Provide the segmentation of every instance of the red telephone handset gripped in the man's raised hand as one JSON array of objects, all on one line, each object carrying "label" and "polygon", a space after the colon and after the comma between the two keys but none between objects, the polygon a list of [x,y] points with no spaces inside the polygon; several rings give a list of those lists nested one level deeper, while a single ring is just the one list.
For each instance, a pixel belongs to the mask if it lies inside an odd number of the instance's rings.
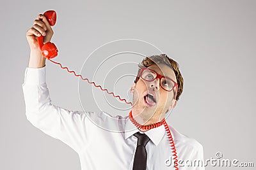
[{"label": "red telephone handset gripped in the man's raised hand", "polygon": [[[47,21],[51,26],[55,25],[57,18],[56,11],[46,11],[44,16],[47,18]],[[41,35],[40,37],[37,37],[37,41],[40,50],[42,51],[42,55],[44,55],[46,59],[49,60],[58,55],[58,49],[54,43],[47,42],[44,44],[44,36]]]}]

